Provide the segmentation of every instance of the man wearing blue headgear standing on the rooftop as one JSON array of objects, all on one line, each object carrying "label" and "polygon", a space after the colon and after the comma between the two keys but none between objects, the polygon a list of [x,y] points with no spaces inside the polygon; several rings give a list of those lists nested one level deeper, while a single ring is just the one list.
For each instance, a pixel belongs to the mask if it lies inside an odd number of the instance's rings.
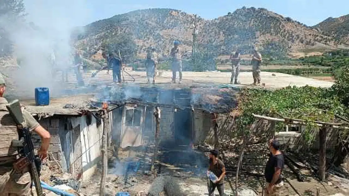
[{"label": "man wearing blue headgear standing on the rooftop", "polygon": [[173,42],[174,47],[171,49],[170,56],[172,58],[172,82],[176,83],[177,71],[179,72],[179,83],[182,83],[182,54],[181,48],[179,47],[179,41]]}]

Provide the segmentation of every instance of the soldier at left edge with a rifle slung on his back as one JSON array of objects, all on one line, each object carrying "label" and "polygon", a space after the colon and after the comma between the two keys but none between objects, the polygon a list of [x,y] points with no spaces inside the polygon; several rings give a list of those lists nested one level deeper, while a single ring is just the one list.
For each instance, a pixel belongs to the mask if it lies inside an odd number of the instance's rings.
[{"label": "soldier at left edge with a rifle slung on his back", "polygon": [[[17,148],[11,145],[13,139],[18,140],[18,127],[6,108],[7,100],[3,97],[5,93],[5,80],[0,76],[0,196],[30,196],[31,177],[29,167],[21,172],[14,170],[13,164],[18,160]],[[22,108],[23,118],[30,132],[35,132],[41,138],[41,147],[38,150],[39,157],[47,158],[47,150],[50,144],[50,133],[46,131]]]}]

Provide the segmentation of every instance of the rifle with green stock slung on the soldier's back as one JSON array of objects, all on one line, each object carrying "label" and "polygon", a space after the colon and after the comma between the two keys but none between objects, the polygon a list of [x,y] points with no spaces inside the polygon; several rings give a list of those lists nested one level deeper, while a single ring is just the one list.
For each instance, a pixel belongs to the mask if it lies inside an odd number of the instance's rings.
[{"label": "rifle with green stock slung on the soldier's back", "polygon": [[10,115],[16,122],[18,126],[20,126],[20,140],[12,140],[12,144],[15,147],[22,147],[19,150],[19,153],[22,154],[21,158],[18,159],[16,163],[14,163],[13,167],[17,171],[23,171],[25,167],[30,167],[30,175],[32,181],[34,181],[36,194],[38,196],[43,196],[43,191],[39,178],[39,170],[41,166],[41,160],[34,155],[34,144],[31,140],[30,132],[28,126],[25,124],[21,106],[18,100],[14,100],[9,104],[6,104],[6,108],[9,111]]}]

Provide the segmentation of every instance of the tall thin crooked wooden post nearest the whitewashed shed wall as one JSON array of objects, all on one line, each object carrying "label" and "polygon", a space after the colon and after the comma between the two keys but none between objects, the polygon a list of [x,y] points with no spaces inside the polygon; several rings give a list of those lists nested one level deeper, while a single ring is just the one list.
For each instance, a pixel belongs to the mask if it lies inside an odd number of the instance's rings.
[{"label": "tall thin crooked wooden post nearest the whitewashed shed wall", "polygon": [[102,133],[102,178],[101,178],[101,186],[99,187],[99,196],[104,196],[104,182],[105,175],[107,173],[107,132],[108,132],[108,112],[107,110],[103,110],[103,133]]}]

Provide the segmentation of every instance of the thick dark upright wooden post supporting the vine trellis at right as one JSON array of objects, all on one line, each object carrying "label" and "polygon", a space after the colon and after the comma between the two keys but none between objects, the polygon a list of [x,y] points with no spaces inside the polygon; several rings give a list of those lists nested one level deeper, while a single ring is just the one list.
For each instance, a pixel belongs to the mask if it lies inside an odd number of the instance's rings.
[{"label": "thick dark upright wooden post supporting the vine trellis at right", "polygon": [[325,172],[326,172],[326,134],[327,127],[322,126],[319,130],[319,178],[320,180],[325,180]]}]

